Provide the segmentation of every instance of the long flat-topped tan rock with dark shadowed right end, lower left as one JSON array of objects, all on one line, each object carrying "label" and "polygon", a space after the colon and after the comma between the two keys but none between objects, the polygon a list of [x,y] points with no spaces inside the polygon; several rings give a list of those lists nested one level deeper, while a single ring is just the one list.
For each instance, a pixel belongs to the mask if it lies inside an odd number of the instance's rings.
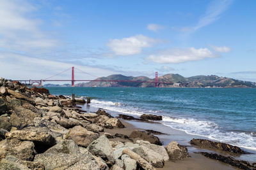
[{"label": "long flat-topped tan rock with dark shadowed right end, lower left", "polygon": [[11,131],[5,134],[6,139],[19,139],[22,141],[34,141],[43,145],[55,145],[56,141],[51,134],[45,132]]}]

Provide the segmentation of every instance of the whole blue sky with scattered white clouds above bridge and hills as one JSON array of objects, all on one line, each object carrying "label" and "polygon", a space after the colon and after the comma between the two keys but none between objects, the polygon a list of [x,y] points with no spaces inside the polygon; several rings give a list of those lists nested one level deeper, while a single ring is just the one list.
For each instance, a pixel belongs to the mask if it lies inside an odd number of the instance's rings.
[{"label": "whole blue sky with scattered white clouds above bridge and hills", "polygon": [[0,0],[0,77],[70,79],[74,66],[77,79],[157,71],[256,81],[255,8],[255,0]]}]

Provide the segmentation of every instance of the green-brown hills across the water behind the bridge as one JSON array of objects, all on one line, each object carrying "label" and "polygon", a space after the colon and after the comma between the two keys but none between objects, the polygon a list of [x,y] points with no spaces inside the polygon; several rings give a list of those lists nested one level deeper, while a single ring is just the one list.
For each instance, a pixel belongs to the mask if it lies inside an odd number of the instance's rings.
[{"label": "green-brown hills across the water behind the bridge", "polygon": [[[155,79],[146,76],[124,76],[122,74],[113,74],[107,77],[100,77],[95,80],[132,80],[132,81],[155,81]],[[241,81],[233,78],[220,76],[192,76],[185,78],[180,74],[165,74],[158,77],[161,82],[173,82],[174,85],[159,83],[159,87],[243,87],[255,88],[256,83],[250,81]],[[104,82],[90,81],[87,83],[77,83],[77,87],[154,87],[154,83],[131,83],[131,82]]]}]

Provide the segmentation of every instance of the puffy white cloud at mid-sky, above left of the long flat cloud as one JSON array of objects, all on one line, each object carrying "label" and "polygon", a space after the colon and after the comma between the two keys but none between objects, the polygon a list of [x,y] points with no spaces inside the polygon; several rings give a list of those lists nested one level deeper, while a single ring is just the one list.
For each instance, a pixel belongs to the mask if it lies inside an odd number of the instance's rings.
[{"label": "puffy white cloud at mid-sky, above left of the long flat cloud", "polygon": [[151,47],[159,42],[161,42],[159,39],[140,34],[129,38],[110,39],[107,45],[115,52],[115,55],[134,55],[141,53],[142,48]]}]

